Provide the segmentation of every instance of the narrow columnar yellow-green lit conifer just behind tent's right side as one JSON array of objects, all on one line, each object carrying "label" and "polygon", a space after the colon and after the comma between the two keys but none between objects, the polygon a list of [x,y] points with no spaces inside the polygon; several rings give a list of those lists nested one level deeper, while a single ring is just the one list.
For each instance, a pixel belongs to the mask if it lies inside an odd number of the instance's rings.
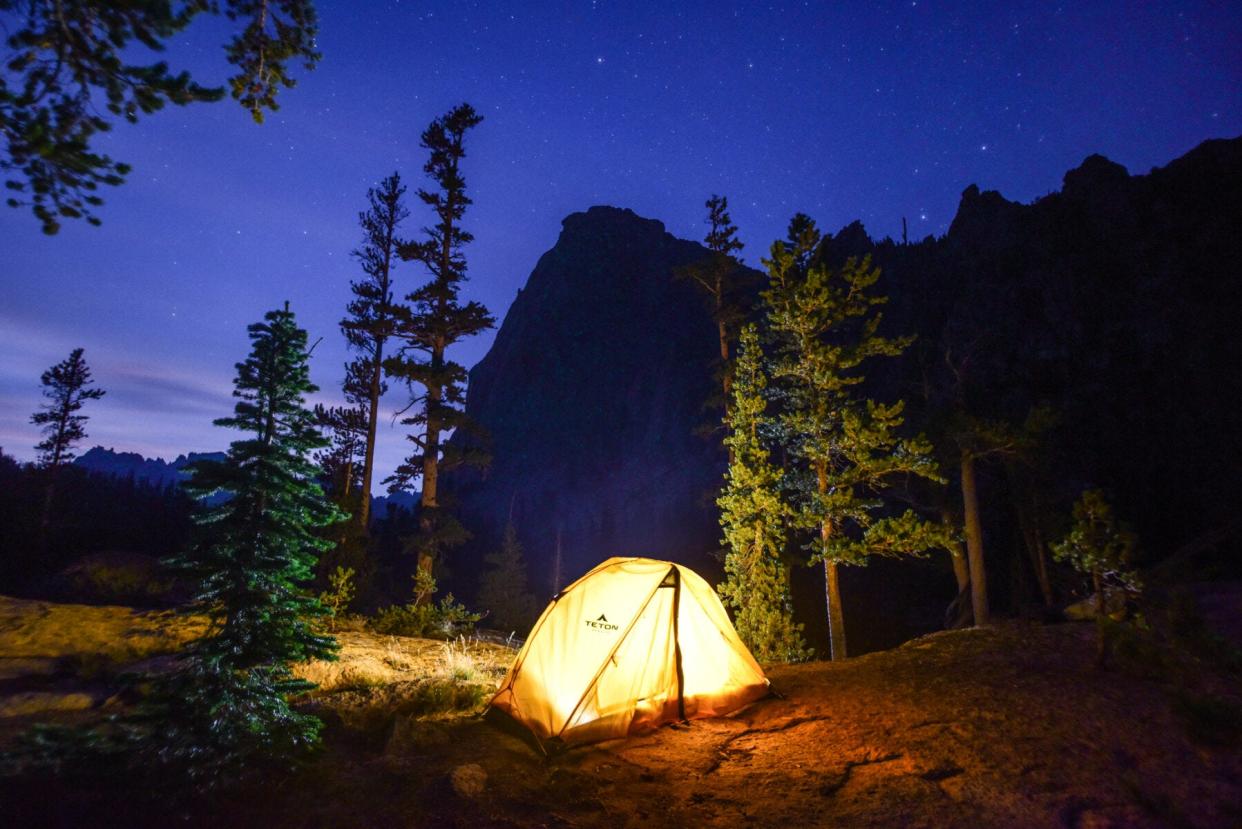
[{"label": "narrow columnar yellow-green lit conifer just behind tent's right side", "polygon": [[725,580],[717,590],[733,609],[738,635],[761,662],[807,659],[802,625],[794,623],[789,574],[781,561],[792,510],[780,491],[784,470],[765,441],[768,401],[759,333],[741,329],[725,416],[730,450],[724,492],[717,498],[724,528]]}]

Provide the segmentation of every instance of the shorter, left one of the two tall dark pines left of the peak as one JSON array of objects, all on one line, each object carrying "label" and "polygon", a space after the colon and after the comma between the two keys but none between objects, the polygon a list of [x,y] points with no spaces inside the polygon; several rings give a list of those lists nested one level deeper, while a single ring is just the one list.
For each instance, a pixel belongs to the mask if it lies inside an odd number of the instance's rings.
[{"label": "shorter, left one of the two tall dark pines left of the peak", "polygon": [[[353,251],[364,277],[350,282],[349,288],[354,298],[348,306],[349,316],[340,321],[340,328],[350,348],[360,354],[350,364],[348,377],[356,379],[360,401],[366,409],[360,485],[366,495],[371,492],[375,476],[375,430],[379,425],[380,398],[388,392],[388,384],[384,383],[384,347],[392,337],[397,317],[407,314],[392,297],[392,267],[397,259],[397,249],[404,245],[397,230],[410,215],[401,203],[402,195],[405,186],[397,173],[384,179],[379,188],[366,191],[369,206],[358,214],[358,224],[363,229],[363,244]],[[365,531],[370,523],[369,497],[363,498],[356,520]]]}]

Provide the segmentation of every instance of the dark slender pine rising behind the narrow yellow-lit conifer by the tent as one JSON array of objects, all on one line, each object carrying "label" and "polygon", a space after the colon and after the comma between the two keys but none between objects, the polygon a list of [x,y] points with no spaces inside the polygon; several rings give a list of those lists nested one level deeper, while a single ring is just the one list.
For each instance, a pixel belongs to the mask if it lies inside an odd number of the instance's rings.
[{"label": "dark slender pine rising behind the narrow yellow-lit conifer by the tent", "polygon": [[720,385],[724,392],[724,408],[728,411],[729,390],[733,383],[732,346],[737,338],[738,326],[745,319],[749,287],[746,270],[738,261],[737,254],[744,245],[738,239],[738,227],[729,216],[729,200],[713,195],[707,200],[707,242],[708,255],[702,261],[687,265],[676,273],[678,278],[693,280],[707,295],[715,322],[718,346],[720,349]]}]

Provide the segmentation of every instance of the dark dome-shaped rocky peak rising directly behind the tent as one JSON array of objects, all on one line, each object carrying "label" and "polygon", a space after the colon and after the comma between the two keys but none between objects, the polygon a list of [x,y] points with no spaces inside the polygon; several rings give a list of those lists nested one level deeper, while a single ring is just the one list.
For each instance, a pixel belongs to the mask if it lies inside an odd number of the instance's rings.
[{"label": "dark dome-shaped rocky peak rising directly behind the tent", "polygon": [[510,510],[540,597],[609,556],[708,558],[724,462],[694,430],[709,416],[715,331],[704,298],[673,278],[704,254],[630,210],[565,219],[471,370],[467,410],[494,461],[453,487],[477,536],[453,568],[466,583]]}]

